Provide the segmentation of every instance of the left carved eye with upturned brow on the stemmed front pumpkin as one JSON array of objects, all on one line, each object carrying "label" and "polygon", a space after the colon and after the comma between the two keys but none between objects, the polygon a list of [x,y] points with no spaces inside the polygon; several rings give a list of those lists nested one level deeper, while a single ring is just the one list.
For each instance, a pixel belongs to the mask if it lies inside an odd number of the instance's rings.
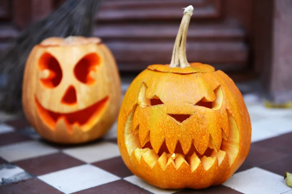
[{"label": "left carved eye with upturned brow on the stemmed front pumpkin", "polygon": [[148,87],[143,82],[138,94],[138,103],[140,106],[156,106],[156,105],[164,104],[163,101],[156,95],[150,99],[146,98],[145,93],[146,93],[147,88]]}]

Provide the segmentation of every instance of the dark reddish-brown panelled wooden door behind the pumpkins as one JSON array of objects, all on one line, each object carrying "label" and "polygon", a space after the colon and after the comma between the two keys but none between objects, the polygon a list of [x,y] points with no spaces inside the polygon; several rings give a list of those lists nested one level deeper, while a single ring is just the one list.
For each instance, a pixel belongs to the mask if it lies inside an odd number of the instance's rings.
[{"label": "dark reddish-brown panelled wooden door behind the pumpkins", "polygon": [[[0,52],[21,29],[63,1],[1,0]],[[104,0],[94,35],[110,47],[121,73],[168,64],[183,16],[180,8],[188,5],[195,8],[187,37],[188,61],[228,73],[252,71],[252,0]]]}]

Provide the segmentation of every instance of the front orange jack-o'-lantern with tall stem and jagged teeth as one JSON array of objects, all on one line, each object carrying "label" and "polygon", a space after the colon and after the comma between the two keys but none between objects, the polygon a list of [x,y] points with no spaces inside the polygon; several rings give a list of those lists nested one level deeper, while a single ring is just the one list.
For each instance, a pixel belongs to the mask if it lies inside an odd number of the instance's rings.
[{"label": "front orange jack-o'-lantern with tall stem and jagged teeth", "polygon": [[240,91],[211,65],[189,64],[185,8],[170,65],[150,65],[129,85],[118,145],[130,171],[167,189],[201,189],[229,179],[248,155],[251,122]]}]

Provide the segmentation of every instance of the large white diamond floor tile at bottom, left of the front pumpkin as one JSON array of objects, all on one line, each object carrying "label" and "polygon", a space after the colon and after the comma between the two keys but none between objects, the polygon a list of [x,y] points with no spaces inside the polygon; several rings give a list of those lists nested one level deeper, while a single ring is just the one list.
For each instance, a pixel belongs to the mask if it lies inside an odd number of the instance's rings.
[{"label": "large white diamond floor tile at bottom, left of the front pumpkin", "polygon": [[56,171],[39,176],[38,178],[65,194],[78,192],[120,179],[90,164]]}]

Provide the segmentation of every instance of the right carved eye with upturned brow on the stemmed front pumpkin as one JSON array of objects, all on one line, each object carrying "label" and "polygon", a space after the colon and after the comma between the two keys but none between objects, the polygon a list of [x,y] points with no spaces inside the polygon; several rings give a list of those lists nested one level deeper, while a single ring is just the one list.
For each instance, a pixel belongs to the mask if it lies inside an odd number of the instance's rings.
[{"label": "right carved eye with upturned brow on the stemmed front pumpkin", "polygon": [[[205,97],[203,97],[199,102],[194,104],[195,106],[202,106],[208,109],[213,109],[213,110],[219,110],[222,106],[223,103],[223,92],[221,85],[219,85],[215,90],[215,100],[214,101],[208,101]],[[190,103],[190,102],[187,102]],[[193,103],[190,103],[193,104]]]}]

